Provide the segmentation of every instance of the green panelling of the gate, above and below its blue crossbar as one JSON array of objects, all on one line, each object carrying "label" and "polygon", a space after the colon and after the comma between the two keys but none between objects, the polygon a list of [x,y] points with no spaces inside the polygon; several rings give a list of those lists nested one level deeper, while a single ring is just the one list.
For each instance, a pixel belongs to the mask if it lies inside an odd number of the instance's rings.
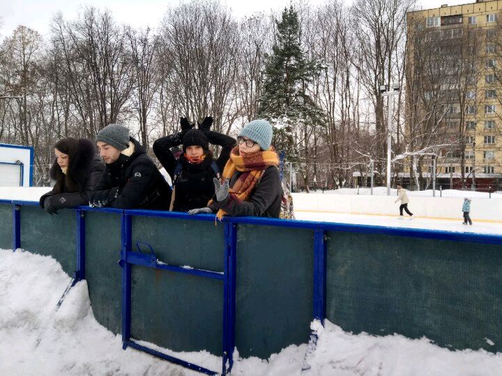
[{"label": "green panelling of the gate, above and below its blue crossbar", "polygon": [[[224,271],[224,224],[132,217],[132,251],[136,242],[150,244],[162,263]],[[132,338],[177,352],[222,354],[222,281],[133,266],[131,295]]]}]

